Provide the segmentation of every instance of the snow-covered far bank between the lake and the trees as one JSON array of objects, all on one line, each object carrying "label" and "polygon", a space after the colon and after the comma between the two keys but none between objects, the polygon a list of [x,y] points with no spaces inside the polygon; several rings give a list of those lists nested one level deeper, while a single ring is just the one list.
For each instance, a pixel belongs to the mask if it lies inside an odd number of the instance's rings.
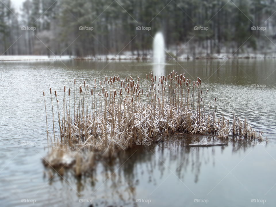
[{"label": "snow-covered far bank between the lake and the trees", "polygon": [[[183,54],[180,56],[170,57],[167,55],[167,60],[187,60],[187,59],[253,59],[253,58],[276,58],[276,53],[264,54],[240,54],[233,56],[231,54],[213,54],[213,55],[196,55]],[[138,56],[138,55],[96,55],[87,57],[74,57],[74,56],[50,56],[47,55],[1,55],[0,61],[35,61],[35,60],[152,60],[152,55]]]}]

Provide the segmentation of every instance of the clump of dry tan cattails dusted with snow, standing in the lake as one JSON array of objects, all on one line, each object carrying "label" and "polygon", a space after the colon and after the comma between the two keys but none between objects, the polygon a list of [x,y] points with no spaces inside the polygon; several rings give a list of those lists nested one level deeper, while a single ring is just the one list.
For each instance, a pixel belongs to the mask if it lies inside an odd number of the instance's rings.
[{"label": "clump of dry tan cattails dusted with snow, standing in the lake", "polygon": [[234,116],[230,123],[224,116],[216,117],[216,98],[212,109],[204,106],[208,90],[202,91],[200,78],[191,81],[174,71],[144,77],[106,76],[94,78],[91,85],[77,85],[75,79],[73,89],[64,86],[62,94],[55,91],[55,97],[50,89],[52,127],[55,131],[58,123],[60,132],[51,143],[110,155],[138,141],[158,142],[176,132],[262,139],[246,119]]}]

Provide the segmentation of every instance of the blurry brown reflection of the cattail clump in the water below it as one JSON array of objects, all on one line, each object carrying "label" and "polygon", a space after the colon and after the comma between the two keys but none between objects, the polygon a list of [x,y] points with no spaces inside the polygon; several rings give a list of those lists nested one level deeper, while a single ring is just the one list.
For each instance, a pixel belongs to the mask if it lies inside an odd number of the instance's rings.
[{"label": "blurry brown reflection of the cattail clump in the water below it", "polygon": [[[202,183],[204,181],[200,179],[201,167],[202,165],[215,167],[218,164],[216,153],[223,153],[225,149],[230,148],[233,153],[246,152],[248,148],[254,147],[254,143],[250,141],[229,141],[228,146],[188,147],[189,143],[195,141],[221,142],[214,136],[195,135],[190,138],[175,137],[173,141],[137,146],[119,152],[117,158],[112,160],[97,157],[89,176],[74,177],[70,171],[66,171],[64,179],[62,177],[59,179],[63,187],[68,188],[66,191],[70,191],[72,187],[80,200],[93,200],[93,205],[136,206],[136,199],[140,198],[138,194],[143,186],[148,186],[150,192],[154,191],[170,174],[175,175],[181,183],[186,183],[191,177],[185,178],[186,174],[192,174],[194,183]],[[54,177],[50,184],[54,185],[59,179]],[[64,185],[66,183],[68,185]],[[89,196],[87,191],[91,192]]]}]

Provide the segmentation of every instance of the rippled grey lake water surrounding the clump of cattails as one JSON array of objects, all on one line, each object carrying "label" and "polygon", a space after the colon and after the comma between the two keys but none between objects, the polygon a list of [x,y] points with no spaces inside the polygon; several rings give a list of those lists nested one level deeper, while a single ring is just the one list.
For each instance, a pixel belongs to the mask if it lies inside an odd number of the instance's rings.
[{"label": "rippled grey lake water surrounding the clump of cattails", "polygon": [[[138,146],[99,160],[91,177],[66,172],[49,179],[42,91],[94,78],[140,76],[154,71],[202,79],[217,115],[247,118],[268,140],[187,147],[185,137]],[[147,62],[0,62],[1,206],[275,206],[276,59]]]}]

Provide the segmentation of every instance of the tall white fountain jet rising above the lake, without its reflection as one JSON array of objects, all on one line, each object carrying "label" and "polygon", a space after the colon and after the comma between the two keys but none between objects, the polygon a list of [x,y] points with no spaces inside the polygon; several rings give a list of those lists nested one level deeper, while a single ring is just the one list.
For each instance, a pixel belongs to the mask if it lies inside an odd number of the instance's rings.
[{"label": "tall white fountain jet rising above the lake, without its reflection", "polygon": [[162,32],[157,32],[154,36],[153,60],[155,64],[165,63],[165,43]]}]

